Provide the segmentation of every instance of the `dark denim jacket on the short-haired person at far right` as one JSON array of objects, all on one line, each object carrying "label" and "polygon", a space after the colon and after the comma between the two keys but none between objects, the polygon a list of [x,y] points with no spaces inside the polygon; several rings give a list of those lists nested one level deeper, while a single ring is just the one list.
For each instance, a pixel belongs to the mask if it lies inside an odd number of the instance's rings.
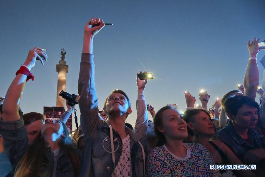
[{"label": "dark denim jacket on the short-haired person at far right", "polygon": [[228,145],[228,147],[241,161],[243,155],[248,150],[259,149],[265,146],[264,135],[261,133],[259,128],[250,128],[248,130],[248,135],[252,143],[249,144],[240,135],[238,135],[231,120],[229,120],[225,127],[223,127],[221,130],[218,130],[217,135],[221,138],[221,141]]}]

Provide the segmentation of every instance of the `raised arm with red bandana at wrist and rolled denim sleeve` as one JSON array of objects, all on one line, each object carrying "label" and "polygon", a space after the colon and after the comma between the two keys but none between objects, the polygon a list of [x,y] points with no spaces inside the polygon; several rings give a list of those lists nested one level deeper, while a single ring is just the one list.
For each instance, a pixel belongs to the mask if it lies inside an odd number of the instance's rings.
[{"label": "raised arm with red bandana at wrist and rolled denim sleeve", "polygon": [[[25,82],[32,77],[29,70],[34,67],[36,58],[42,64],[43,59],[47,60],[46,53],[42,49],[35,47],[29,50],[27,60],[24,65],[16,72],[16,77],[9,86],[6,93],[6,99],[3,104],[3,117],[1,120],[1,135],[4,139],[4,149],[15,170],[19,160],[23,157],[29,145],[28,133],[24,126],[23,119],[19,116],[19,104],[24,91]],[[42,59],[43,58],[43,59]]]}]

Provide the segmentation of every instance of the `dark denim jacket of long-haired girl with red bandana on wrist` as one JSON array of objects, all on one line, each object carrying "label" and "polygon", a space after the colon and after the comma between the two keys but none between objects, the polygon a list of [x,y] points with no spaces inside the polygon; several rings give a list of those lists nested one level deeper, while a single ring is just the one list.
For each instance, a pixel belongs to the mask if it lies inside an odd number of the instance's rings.
[{"label": "dark denim jacket of long-haired girl with red bandana on wrist", "polygon": [[[21,117],[18,121],[3,121],[0,120],[1,135],[4,138],[4,149],[8,156],[13,171],[15,171],[19,160],[23,157],[29,146],[28,134],[24,126],[24,120]],[[47,172],[45,176],[52,176],[54,169],[54,154],[49,147],[44,152],[44,159],[46,159],[41,167],[41,172]],[[70,177],[75,176],[74,167],[70,158],[62,151],[59,152],[57,160],[56,176]]]}]

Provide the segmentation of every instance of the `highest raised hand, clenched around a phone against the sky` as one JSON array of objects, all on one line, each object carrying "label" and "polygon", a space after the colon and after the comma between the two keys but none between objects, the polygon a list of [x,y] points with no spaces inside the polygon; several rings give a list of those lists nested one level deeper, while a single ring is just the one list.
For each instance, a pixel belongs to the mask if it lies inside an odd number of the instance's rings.
[{"label": "highest raised hand, clenched around a phone against the sky", "polygon": [[[95,26],[95,25],[98,25],[98,26]],[[94,37],[94,35],[97,34],[104,26],[105,24],[102,19],[92,18],[85,26],[84,36]]]}]

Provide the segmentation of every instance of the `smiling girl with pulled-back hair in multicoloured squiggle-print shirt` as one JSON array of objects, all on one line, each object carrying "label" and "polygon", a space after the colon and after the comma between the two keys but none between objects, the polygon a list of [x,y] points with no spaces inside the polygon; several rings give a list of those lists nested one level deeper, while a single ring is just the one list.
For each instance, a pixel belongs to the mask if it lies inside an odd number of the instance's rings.
[{"label": "smiling girl with pulled-back hair in multicoloured squiggle-print shirt", "polygon": [[149,176],[221,176],[211,170],[211,154],[197,143],[183,143],[187,124],[173,106],[161,108],[154,119],[158,145],[148,156]]}]

